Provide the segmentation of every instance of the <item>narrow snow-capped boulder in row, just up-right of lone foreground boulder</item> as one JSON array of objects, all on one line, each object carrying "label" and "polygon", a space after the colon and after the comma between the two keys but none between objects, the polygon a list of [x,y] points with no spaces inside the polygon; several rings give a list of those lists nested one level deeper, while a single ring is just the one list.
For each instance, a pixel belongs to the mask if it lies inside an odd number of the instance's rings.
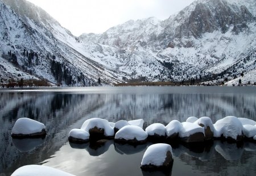
[{"label": "narrow snow-capped boulder in row, just up-right of lone foreground boulder", "polygon": [[173,141],[179,136],[182,125],[179,121],[173,120],[166,126],[166,135],[168,141]]}]

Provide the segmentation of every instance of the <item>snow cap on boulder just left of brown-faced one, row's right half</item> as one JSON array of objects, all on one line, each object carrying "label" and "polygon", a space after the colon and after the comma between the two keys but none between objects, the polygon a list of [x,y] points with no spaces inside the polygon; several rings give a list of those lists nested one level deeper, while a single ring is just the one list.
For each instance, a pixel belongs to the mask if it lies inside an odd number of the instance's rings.
[{"label": "snow cap on boulder just left of brown-faced one, row's right half", "polygon": [[197,132],[202,132],[204,134],[204,128],[199,125],[196,125],[195,123],[182,122],[181,125],[182,128],[180,129],[179,132],[180,138],[189,137],[190,135],[193,135]]}]

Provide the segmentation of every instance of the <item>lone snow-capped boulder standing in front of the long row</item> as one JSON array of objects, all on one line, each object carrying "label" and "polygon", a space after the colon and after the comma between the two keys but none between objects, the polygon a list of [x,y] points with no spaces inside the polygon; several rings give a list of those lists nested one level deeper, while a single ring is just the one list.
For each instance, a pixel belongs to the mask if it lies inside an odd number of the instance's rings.
[{"label": "lone snow-capped boulder standing in front of the long row", "polygon": [[174,162],[172,147],[169,144],[153,144],[147,148],[141,162],[141,169],[170,169]]}]

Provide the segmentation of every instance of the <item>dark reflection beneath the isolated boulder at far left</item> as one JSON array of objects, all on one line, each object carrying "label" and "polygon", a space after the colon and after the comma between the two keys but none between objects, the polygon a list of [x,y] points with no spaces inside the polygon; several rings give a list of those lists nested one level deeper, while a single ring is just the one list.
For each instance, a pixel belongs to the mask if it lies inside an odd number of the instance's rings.
[{"label": "dark reflection beneath the isolated boulder at far left", "polygon": [[13,138],[14,146],[20,152],[29,152],[42,145],[44,143],[44,138],[29,138],[29,139],[15,139]]}]

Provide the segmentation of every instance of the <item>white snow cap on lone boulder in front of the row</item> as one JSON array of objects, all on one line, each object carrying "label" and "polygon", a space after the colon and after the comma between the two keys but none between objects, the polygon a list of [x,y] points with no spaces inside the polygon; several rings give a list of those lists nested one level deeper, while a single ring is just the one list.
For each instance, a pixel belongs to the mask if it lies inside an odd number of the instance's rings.
[{"label": "white snow cap on lone boulder in front of the row", "polygon": [[162,166],[166,161],[166,153],[168,151],[172,154],[172,147],[169,144],[150,145],[143,155],[141,165]]}]

